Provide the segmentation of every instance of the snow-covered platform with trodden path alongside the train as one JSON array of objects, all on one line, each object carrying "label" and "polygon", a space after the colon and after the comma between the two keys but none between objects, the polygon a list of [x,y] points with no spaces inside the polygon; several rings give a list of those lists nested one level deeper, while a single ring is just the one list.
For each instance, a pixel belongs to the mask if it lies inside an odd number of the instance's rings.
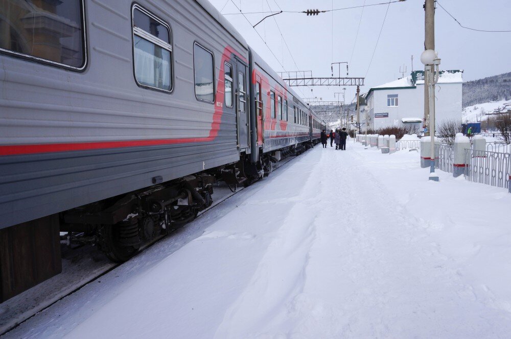
[{"label": "snow-covered platform with trodden path alongside the train", "polygon": [[316,146],[5,337],[509,338],[511,194],[346,148]]}]

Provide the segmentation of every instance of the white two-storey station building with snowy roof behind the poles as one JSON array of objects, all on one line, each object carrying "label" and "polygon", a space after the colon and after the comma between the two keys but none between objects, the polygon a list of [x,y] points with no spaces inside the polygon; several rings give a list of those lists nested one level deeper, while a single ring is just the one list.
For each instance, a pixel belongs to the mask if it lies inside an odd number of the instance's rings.
[{"label": "white two-storey station building with snowy roof behind the poles", "polygon": [[[462,70],[440,71],[435,93],[437,125],[445,119],[461,120],[462,74]],[[387,126],[414,126],[422,129],[424,71],[413,71],[402,79],[373,87],[365,98],[369,128],[375,130]],[[365,116],[361,115],[362,119]]]}]

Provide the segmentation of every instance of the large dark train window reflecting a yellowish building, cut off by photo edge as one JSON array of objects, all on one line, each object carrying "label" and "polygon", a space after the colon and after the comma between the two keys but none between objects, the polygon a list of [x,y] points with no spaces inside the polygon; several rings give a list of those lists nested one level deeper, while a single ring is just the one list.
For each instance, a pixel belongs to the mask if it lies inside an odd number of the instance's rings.
[{"label": "large dark train window reflecting a yellowish building, cut off by photo edge", "polygon": [[0,50],[60,65],[85,68],[83,1],[0,2]]}]

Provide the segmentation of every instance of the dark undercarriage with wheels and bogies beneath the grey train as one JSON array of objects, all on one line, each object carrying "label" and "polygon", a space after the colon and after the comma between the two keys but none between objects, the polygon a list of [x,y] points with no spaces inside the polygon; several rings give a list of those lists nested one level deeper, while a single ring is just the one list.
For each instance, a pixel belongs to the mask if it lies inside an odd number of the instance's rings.
[{"label": "dark undercarriage with wheels and bogies beneath the grey train", "polygon": [[255,163],[243,155],[236,163],[2,229],[0,302],[60,273],[61,245],[98,246],[113,262],[125,262],[144,244],[182,227],[211,206],[218,181],[236,191],[268,176],[275,163],[312,147],[312,142],[304,142],[260,152]]}]

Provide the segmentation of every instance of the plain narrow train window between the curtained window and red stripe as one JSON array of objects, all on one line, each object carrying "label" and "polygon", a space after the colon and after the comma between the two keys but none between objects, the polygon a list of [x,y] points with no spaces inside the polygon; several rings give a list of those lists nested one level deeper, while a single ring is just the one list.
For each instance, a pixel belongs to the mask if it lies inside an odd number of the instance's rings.
[{"label": "plain narrow train window between the curtained window and red stripe", "polygon": [[197,100],[214,102],[215,79],[213,53],[195,43],[193,46],[193,65],[195,75],[195,97]]}]

